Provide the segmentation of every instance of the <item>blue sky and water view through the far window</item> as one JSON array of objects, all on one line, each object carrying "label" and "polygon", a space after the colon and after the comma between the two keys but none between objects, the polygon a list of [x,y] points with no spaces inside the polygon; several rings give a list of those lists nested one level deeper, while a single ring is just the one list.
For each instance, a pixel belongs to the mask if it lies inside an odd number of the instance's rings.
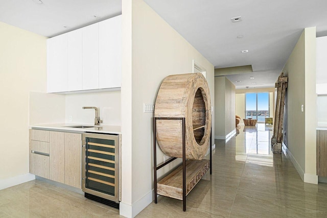
[{"label": "blue sky and water view through the far window", "polygon": [[259,123],[265,123],[265,117],[269,117],[268,92],[245,94],[245,117],[258,119]]}]

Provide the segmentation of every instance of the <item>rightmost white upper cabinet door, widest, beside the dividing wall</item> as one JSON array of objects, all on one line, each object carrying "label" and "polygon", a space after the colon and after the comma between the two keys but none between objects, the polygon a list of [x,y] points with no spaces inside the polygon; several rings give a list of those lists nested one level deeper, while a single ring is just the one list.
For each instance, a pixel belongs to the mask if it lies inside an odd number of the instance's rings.
[{"label": "rightmost white upper cabinet door, widest, beside the dividing wall", "polygon": [[121,87],[122,16],[99,22],[99,88]]}]

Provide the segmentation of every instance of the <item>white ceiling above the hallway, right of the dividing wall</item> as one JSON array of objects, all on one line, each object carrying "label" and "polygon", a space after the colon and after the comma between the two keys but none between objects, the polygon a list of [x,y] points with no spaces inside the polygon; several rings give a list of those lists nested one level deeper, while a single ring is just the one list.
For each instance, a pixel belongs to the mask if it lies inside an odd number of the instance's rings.
[{"label": "white ceiling above the hallway, right of the dividing wall", "polygon": [[[237,88],[273,87],[304,28],[327,35],[326,0],[145,2],[215,68],[252,65],[252,74],[227,76]],[[237,16],[242,21],[231,22]]]}]

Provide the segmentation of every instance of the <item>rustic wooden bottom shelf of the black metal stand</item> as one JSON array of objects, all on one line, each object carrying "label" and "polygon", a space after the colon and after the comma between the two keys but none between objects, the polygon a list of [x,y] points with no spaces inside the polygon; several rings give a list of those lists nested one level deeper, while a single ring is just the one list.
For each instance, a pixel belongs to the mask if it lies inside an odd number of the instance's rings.
[{"label": "rustic wooden bottom shelf of the black metal stand", "polygon": [[[186,160],[186,196],[210,168],[209,160]],[[157,183],[157,194],[183,200],[183,166]]]}]

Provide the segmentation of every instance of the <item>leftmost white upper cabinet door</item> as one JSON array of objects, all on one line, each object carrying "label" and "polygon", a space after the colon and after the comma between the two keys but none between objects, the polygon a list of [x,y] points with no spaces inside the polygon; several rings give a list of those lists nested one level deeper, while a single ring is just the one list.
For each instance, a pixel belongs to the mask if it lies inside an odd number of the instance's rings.
[{"label": "leftmost white upper cabinet door", "polygon": [[47,45],[47,91],[67,90],[67,34],[46,41]]}]

